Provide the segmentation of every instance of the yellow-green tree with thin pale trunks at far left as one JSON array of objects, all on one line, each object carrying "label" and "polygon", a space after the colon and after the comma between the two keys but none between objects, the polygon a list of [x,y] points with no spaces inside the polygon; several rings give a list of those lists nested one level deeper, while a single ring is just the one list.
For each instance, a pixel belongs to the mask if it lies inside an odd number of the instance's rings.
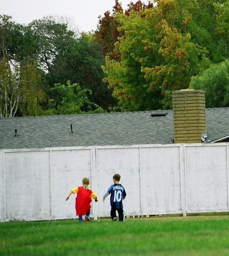
[{"label": "yellow-green tree with thin pale trunks at far left", "polygon": [[0,116],[42,115],[46,94],[40,77],[33,65],[12,65],[7,57],[0,58]]}]

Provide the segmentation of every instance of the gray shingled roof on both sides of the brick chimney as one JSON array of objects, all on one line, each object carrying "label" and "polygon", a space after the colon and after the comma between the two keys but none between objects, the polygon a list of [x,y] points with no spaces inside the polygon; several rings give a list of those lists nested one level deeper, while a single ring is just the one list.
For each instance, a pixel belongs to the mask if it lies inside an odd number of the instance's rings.
[{"label": "gray shingled roof on both sides of the brick chimney", "polygon": [[[206,109],[206,127],[208,141],[229,136],[229,108]],[[172,110],[0,118],[0,149],[170,143]]]}]

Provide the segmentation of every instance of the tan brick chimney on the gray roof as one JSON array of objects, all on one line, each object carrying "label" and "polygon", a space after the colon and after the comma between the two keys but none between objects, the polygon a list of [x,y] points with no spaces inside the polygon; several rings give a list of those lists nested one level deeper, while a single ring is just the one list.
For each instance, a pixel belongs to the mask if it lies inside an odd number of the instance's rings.
[{"label": "tan brick chimney on the gray roof", "polygon": [[174,143],[200,143],[206,133],[205,92],[172,92]]}]

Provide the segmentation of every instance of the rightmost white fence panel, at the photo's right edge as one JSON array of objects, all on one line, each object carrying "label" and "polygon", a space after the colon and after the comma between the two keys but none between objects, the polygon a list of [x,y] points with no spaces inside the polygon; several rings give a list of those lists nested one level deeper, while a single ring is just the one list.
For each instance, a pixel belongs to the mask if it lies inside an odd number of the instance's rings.
[{"label": "rightmost white fence panel, at the photo's right edge", "polygon": [[227,146],[186,147],[187,212],[228,210]]}]

